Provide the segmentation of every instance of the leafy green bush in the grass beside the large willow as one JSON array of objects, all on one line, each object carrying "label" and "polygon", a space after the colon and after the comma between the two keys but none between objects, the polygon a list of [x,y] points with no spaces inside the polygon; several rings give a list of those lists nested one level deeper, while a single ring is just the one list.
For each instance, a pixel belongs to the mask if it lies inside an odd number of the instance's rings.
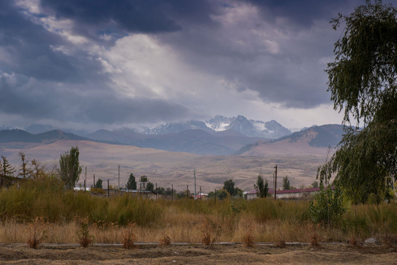
[{"label": "leafy green bush in the grass beside the large willow", "polygon": [[338,224],[345,211],[341,189],[335,188],[332,191],[331,186],[327,188],[321,186],[316,196],[316,203],[311,201],[309,206],[312,221],[328,224],[329,227]]}]

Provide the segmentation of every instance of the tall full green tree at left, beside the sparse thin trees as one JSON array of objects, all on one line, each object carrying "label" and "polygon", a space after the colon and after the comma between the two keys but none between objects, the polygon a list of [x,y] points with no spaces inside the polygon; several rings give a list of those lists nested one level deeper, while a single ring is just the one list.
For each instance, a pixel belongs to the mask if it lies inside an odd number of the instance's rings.
[{"label": "tall full green tree at left, beside the sparse thin trees", "polygon": [[70,152],[61,154],[59,160],[60,177],[65,182],[66,188],[69,189],[74,188],[82,171],[79,165],[78,155],[78,147],[71,147]]}]

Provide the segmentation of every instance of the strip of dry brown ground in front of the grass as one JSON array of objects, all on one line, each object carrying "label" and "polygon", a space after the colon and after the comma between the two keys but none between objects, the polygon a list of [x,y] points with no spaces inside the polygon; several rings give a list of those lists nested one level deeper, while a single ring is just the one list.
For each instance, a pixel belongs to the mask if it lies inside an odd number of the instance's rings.
[{"label": "strip of dry brown ground in front of the grass", "polygon": [[256,245],[139,246],[0,246],[0,264],[397,264],[395,247],[323,245],[277,248]]}]

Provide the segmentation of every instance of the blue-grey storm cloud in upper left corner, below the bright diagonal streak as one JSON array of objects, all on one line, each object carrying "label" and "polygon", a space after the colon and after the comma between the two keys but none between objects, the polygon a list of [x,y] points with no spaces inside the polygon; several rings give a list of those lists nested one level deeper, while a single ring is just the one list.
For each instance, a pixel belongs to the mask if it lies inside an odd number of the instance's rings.
[{"label": "blue-grey storm cloud in upper left corner, below the bright diagonal streak", "polygon": [[68,45],[59,35],[26,18],[12,1],[0,1],[0,69],[39,80],[84,82],[97,76],[97,62],[85,53],[53,50]]}]

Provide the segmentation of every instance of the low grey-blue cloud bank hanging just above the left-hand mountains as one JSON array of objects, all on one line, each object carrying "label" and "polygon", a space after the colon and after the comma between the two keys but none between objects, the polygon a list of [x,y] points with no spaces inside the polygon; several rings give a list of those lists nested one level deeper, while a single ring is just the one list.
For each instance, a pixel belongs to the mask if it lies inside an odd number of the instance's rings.
[{"label": "low grey-blue cloud bank hanging just above the left-hand mountains", "polygon": [[[105,125],[158,122],[188,117],[189,110],[161,99],[120,97],[104,88],[78,86],[73,89],[54,83],[32,83],[18,75],[0,77],[0,112],[21,115],[34,121]],[[37,89],[40,88],[40,89]]]}]

